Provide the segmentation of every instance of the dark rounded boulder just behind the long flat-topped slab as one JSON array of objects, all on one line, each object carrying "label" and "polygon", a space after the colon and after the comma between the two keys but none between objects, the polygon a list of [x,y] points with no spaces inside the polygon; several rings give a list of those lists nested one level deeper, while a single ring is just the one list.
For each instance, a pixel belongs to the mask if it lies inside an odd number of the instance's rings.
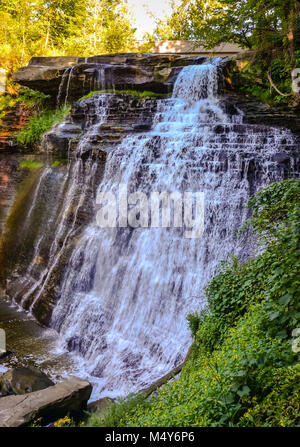
[{"label": "dark rounded boulder just behind the long flat-topped slab", "polygon": [[32,393],[52,385],[54,382],[37,368],[14,368],[0,375],[2,396]]}]

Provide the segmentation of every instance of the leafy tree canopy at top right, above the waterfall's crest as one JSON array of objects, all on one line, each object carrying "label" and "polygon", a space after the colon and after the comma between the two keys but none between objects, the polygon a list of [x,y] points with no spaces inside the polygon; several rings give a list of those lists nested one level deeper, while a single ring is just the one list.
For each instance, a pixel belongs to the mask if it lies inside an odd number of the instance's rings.
[{"label": "leafy tree canopy at top right, above the waterfall's crest", "polygon": [[207,48],[233,42],[243,48],[288,48],[300,34],[299,0],[182,0],[158,22],[157,39],[202,40]]}]

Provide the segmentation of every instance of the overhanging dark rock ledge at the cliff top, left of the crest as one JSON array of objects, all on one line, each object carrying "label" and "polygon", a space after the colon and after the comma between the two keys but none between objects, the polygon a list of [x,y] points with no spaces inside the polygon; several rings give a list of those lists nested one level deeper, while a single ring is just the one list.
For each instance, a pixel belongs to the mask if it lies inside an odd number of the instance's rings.
[{"label": "overhanging dark rock ledge at the cliff top, left of the crest", "polygon": [[92,90],[172,91],[185,65],[202,63],[204,57],[124,53],[80,57],[35,57],[14,73],[13,80],[64,101],[73,102]]}]

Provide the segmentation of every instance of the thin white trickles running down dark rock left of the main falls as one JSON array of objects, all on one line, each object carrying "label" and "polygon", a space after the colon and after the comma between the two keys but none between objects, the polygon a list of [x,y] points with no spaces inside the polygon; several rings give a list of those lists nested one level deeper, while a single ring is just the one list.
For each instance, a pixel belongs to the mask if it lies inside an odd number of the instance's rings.
[{"label": "thin white trickles running down dark rock left of the main falls", "polygon": [[[38,239],[34,243],[31,262],[28,265],[24,276],[20,279],[16,295],[12,296],[12,300],[15,303],[19,304],[21,307],[29,309],[30,312],[33,311],[34,306],[39,302],[43,293],[45,293],[53,272],[57,268],[59,262],[61,262],[61,258],[65,253],[67,245],[70,243],[70,240],[72,240],[72,237],[74,237],[78,214],[85,206],[85,201],[88,196],[91,195],[98,163],[90,157],[83,162],[80,156],[83,154],[89,138],[95,135],[98,126],[104,121],[107,105],[107,98],[102,97],[97,99],[95,103],[95,114],[97,116],[96,123],[92,124],[87,122],[89,131],[86,132],[78,144],[77,154],[79,157],[75,160],[71,160],[70,154],[68,153],[67,172],[63,174],[62,179],[57,179],[57,200],[52,204],[52,209],[49,210],[51,214],[48,216],[46,224],[46,228],[51,228],[52,226],[55,228],[47,255],[48,262],[44,269],[38,273],[38,278],[35,278],[35,280],[32,281],[34,276],[33,271],[37,267],[36,259],[41,256],[41,253],[45,252],[43,242],[44,239],[49,238],[48,232],[45,228],[42,228],[41,234],[37,235]],[[64,125],[68,125],[68,123],[57,125],[57,130]],[[47,145],[47,136],[44,138],[44,145]],[[32,223],[32,214],[36,211],[39,200],[42,200],[42,197],[40,196],[45,193],[45,189],[48,187],[49,178],[51,178],[52,175],[53,169],[50,167],[46,167],[43,170],[35,188],[26,220],[23,224],[22,229],[24,231],[27,231]]]}]

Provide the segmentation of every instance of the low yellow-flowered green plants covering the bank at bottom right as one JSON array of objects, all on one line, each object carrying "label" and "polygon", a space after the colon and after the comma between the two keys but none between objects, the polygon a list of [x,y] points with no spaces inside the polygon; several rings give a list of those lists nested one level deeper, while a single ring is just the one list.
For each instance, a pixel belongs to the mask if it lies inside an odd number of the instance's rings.
[{"label": "low yellow-flowered green plants covering the bank at bottom right", "polygon": [[[137,406],[127,412],[126,425],[256,425],[249,414],[253,407],[258,411],[267,398],[274,403],[270,393],[278,378],[283,380],[287,373],[283,365],[291,362],[290,351],[288,343],[266,337],[262,306],[251,306],[228,331],[220,348],[208,354],[198,345],[197,356],[181,377],[162,387],[146,408]],[[294,398],[290,404],[290,419],[284,425],[296,425],[299,418],[299,402]],[[257,425],[263,423],[262,417]],[[276,424],[270,418],[268,425]]]}]

